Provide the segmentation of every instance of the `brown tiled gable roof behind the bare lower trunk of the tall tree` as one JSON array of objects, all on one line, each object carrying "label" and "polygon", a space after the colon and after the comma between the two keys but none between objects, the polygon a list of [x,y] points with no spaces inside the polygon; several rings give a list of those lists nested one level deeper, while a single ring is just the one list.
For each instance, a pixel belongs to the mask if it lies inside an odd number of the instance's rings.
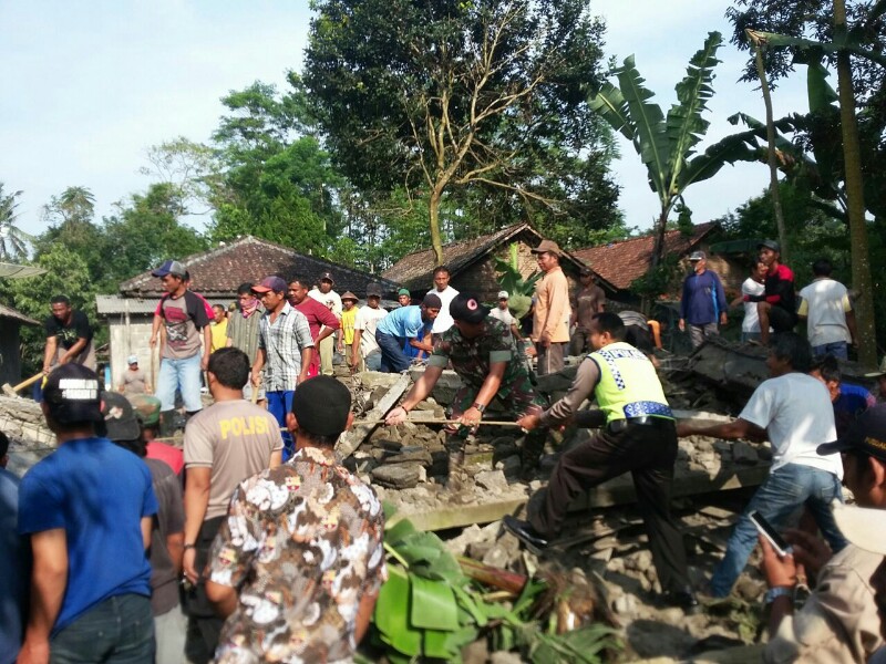
[{"label": "brown tiled gable roof behind the bare lower trunk of the tall tree", "polygon": [[[526,222],[507,226],[495,232],[480,236],[471,240],[451,242],[443,246],[443,264],[450,269],[450,273],[455,277],[462,270],[468,268],[477,260],[495,251],[505,242],[514,240],[517,236],[524,236],[530,246],[537,246],[545,238]],[[577,267],[581,263],[574,259],[574,256],[564,253],[566,260],[571,261]],[[393,266],[388,268],[382,276],[391,281],[402,283],[411,291],[426,290],[433,282],[433,271],[436,267],[434,250],[422,249],[408,253]]]}]

